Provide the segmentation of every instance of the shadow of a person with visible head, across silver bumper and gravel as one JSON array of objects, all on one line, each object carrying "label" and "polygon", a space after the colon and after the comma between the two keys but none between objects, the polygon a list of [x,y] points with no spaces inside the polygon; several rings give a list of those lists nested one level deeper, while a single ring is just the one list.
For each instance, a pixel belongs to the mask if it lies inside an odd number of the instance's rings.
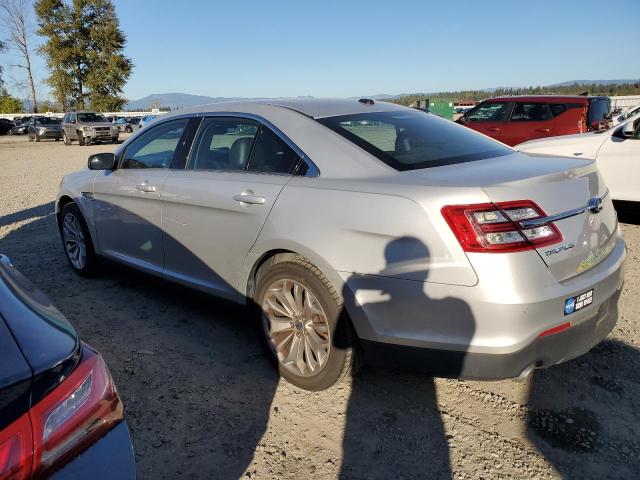
[{"label": "shadow of a person with visible head, across silver bumper and gravel", "polygon": [[[447,356],[446,364],[425,365],[432,360],[419,349],[392,359],[387,354],[396,353],[393,349],[367,348],[367,360],[378,367],[398,362],[403,369],[420,373],[365,368],[353,379],[340,478],[452,478],[448,438],[429,373],[461,374],[475,320],[463,300],[428,296],[425,282],[431,258],[420,240],[392,240],[384,254],[386,267],[379,275],[353,275],[343,289],[356,326],[364,314],[382,335],[433,338],[435,332],[447,332],[448,339],[455,338],[458,350]],[[418,279],[393,279],[408,271],[417,272],[412,278]],[[379,301],[372,300],[372,292],[378,293]]]}]

